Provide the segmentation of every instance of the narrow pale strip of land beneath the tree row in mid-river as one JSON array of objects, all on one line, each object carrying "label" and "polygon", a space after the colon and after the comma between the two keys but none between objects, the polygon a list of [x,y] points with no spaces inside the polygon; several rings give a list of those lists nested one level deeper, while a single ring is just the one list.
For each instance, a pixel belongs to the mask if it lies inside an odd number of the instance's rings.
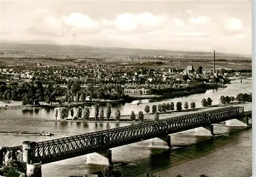
[{"label": "narrow pale strip of land beneath the tree row in mid-river", "polygon": [[[251,103],[248,102],[231,102],[229,104],[216,104],[216,105],[211,105],[208,107],[198,107],[198,108],[189,108],[189,109],[183,109],[180,112],[178,112],[177,110],[173,110],[173,111],[168,111],[165,113],[159,113],[159,119],[166,119],[166,118],[170,118],[170,117],[177,117],[177,116],[182,116],[182,115],[186,115],[186,114],[193,114],[193,113],[197,113],[197,112],[202,112],[202,111],[206,111],[206,110],[214,110],[214,109],[218,109],[220,107],[227,107],[227,106],[244,106],[244,105],[248,105]],[[246,110],[251,110],[251,109],[246,109]],[[246,111],[245,110],[245,111]],[[131,121],[130,119],[130,115],[121,115],[120,116],[120,120],[117,121],[115,119],[114,116],[111,116],[109,121],[106,120],[106,118],[104,117],[103,120],[94,120],[94,117],[90,117],[89,120],[71,120],[71,119],[67,119],[67,120],[45,120],[45,121],[53,121],[53,122],[104,122],[104,123],[110,123],[110,122],[114,122],[114,123],[139,123],[139,119],[138,119],[138,114],[135,115],[136,119],[135,121]],[[145,113],[144,114],[144,122],[145,121],[154,121],[155,115],[153,113]],[[54,119],[54,118],[53,118]]]}]

